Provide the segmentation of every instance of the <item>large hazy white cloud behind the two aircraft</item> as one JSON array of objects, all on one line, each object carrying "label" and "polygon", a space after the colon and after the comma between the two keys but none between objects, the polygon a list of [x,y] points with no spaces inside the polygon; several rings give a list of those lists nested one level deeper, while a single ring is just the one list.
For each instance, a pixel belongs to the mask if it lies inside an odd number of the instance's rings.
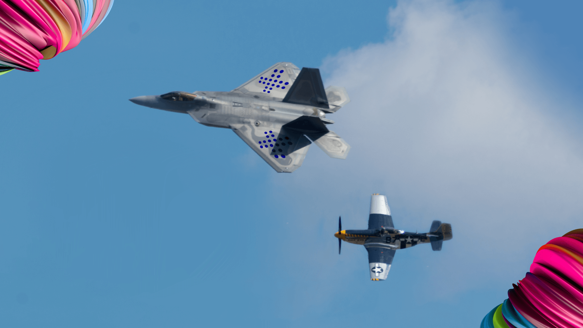
[{"label": "large hazy white cloud behind the two aircraft", "polygon": [[422,255],[436,270],[419,273],[419,288],[455,281],[441,287],[451,292],[492,280],[510,288],[540,245],[583,228],[580,135],[553,116],[564,104],[512,46],[509,18],[490,2],[399,1],[387,41],[326,59],[325,85],[345,86],[352,99],[329,115],[331,129],[352,149],[341,162],[314,145],[283,178],[304,195],[302,228],[321,218],[314,236],[328,238],[342,213],[345,228],[366,228],[365,198],[385,193],[398,228],[452,224],[446,254]]}]

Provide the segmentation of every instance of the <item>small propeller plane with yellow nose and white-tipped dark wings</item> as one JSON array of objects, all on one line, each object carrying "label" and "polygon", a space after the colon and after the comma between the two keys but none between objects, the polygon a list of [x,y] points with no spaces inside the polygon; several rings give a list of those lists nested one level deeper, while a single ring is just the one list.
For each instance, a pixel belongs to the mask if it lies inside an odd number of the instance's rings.
[{"label": "small propeller plane with yellow nose and white-tipped dark wings", "polygon": [[342,230],[342,220],[338,218],[338,232],[334,236],[338,238],[338,254],[342,240],[366,247],[370,280],[375,281],[387,279],[396,250],[424,243],[431,243],[433,250],[441,250],[443,241],[452,238],[451,224],[437,220],[426,233],[395,229],[387,197],[380,194],[371,197],[368,230]]}]

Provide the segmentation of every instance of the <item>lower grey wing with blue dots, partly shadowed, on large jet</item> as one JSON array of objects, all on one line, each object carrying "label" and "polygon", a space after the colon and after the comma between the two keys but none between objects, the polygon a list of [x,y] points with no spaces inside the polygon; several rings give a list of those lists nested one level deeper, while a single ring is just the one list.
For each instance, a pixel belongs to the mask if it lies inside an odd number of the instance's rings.
[{"label": "lower grey wing with blue dots, partly shadowed, on large jet", "polygon": [[277,172],[291,173],[304,162],[311,141],[303,133],[279,127],[239,125],[233,131]]}]

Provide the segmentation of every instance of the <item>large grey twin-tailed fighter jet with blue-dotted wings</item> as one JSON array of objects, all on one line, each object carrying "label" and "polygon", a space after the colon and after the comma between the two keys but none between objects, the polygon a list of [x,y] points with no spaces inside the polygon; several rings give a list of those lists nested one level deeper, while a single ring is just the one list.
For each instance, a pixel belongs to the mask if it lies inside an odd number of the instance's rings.
[{"label": "large grey twin-tailed fighter jet with blue-dotted wings", "polygon": [[326,114],[350,102],[345,88],[324,89],[317,68],[278,62],[230,92],[169,92],[129,99],[155,109],[189,114],[208,127],[230,128],[277,172],[293,172],[314,142],[331,158],[350,151]]}]

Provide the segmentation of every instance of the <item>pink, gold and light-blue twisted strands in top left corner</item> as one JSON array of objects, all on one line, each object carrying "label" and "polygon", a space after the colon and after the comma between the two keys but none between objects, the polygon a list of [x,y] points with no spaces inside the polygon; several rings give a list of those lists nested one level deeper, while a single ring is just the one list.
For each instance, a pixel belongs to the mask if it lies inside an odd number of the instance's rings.
[{"label": "pink, gold and light-blue twisted strands in top left corner", "polygon": [[0,0],[0,75],[36,72],[39,60],[76,47],[114,0]]}]

